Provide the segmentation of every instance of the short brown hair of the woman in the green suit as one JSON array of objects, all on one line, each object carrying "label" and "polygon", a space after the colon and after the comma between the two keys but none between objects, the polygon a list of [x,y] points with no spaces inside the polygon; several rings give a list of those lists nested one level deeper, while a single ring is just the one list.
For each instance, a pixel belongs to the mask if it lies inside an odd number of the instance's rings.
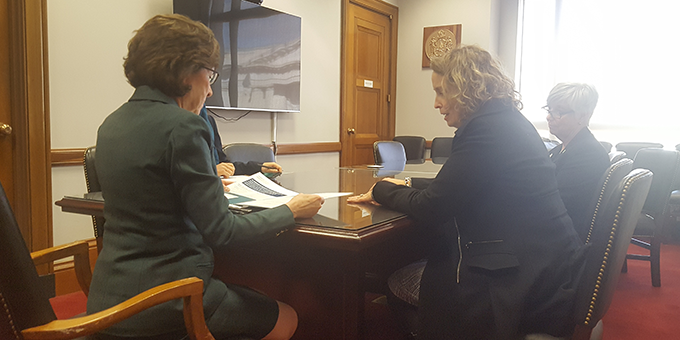
[{"label": "short brown hair of the woman in the green suit", "polygon": [[130,85],[147,85],[169,97],[191,90],[184,83],[202,67],[216,68],[220,46],[205,25],[180,14],[157,15],[138,29],[128,43],[123,67]]}]

